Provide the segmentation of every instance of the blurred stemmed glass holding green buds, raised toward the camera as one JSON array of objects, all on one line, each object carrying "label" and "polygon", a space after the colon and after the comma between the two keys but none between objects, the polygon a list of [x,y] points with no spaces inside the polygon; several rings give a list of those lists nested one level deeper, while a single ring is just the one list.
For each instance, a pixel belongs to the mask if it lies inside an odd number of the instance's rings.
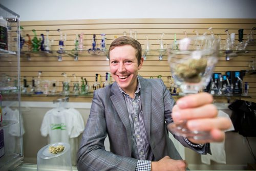
[{"label": "blurred stemmed glass holding green buds, raised toward the camera", "polygon": [[[212,35],[186,37],[168,48],[168,63],[174,81],[185,94],[196,94],[208,85],[218,62],[220,39]],[[209,139],[209,132],[191,131],[186,121],[172,123],[174,134],[194,139]]]}]

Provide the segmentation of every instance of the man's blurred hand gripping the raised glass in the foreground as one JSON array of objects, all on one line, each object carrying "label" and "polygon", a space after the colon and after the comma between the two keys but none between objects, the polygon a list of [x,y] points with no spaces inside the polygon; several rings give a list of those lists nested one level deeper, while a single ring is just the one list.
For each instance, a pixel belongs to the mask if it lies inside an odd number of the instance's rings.
[{"label": "man's blurred hand gripping the raised glass in the foreground", "polygon": [[173,108],[174,122],[187,121],[187,127],[192,131],[209,131],[210,139],[195,140],[188,138],[193,143],[221,142],[225,139],[224,130],[231,122],[227,118],[217,117],[218,110],[212,104],[213,98],[208,93],[188,95],[177,100]]}]

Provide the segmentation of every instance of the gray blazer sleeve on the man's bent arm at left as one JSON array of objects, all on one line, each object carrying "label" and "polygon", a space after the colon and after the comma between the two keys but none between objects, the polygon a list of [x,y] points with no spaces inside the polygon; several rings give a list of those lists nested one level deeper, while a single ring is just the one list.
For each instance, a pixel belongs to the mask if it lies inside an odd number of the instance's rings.
[{"label": "gray blazer sleeve on the man's bent arm at left", "polygon": [[94,92],[91,112],[77,153],[77,168],[78,170],[135,170],[137,159],[105,151],[104,140],[107,131],[102,100],[105,94],[102,91],[99,89]]}]

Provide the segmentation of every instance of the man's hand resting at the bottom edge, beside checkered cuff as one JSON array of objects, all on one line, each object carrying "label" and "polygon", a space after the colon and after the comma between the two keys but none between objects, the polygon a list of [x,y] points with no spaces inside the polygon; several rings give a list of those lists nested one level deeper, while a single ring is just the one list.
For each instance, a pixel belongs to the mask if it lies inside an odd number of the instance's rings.
[{"label": "man's hand resting at the bottom edge, beside checkered cuff", "polygon": [[161,170],[161,171],[180,171],[180,170],[186,170],[187,163],[185,160],[173,160],[169,158],[168,156],[163,157],[159,161],[153,161],[151,162],[151,170]]}]

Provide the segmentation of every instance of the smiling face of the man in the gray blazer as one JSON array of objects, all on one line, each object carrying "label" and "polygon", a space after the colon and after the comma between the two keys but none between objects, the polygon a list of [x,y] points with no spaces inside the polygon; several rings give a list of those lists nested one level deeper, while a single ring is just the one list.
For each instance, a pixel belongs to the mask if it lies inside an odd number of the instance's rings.
[{"label": "smiling face of the man in the gray blazer", "polygon": [[142,63],[143,58],[138,66],[136,51],[130,45],[115,47],[110,51],[110,73],[127,94],[137,88],[137,75]]}]

